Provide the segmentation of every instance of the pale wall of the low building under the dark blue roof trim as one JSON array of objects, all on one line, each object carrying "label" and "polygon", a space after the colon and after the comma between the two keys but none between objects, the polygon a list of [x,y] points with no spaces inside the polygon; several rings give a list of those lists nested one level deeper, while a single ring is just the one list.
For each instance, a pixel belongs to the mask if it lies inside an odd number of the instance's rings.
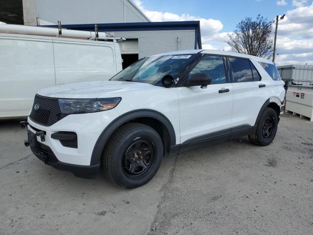
[{"label": "pale wall of the low building under the dark blue roof trim", "polygon": [[127,39],[138,39],[139,59],[162,52],[195,48],[195,30],[118,31],[114,32],[114,37],[126,38],[125,43]]}]

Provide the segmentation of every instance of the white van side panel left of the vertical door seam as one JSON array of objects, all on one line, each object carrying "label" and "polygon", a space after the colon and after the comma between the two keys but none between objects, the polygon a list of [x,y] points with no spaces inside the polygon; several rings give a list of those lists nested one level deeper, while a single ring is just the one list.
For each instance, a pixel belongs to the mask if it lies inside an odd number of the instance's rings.
[{"label": "white van side panel left of the vertical door seam", "polygon": [[0,118],[27,116],[35,94],[55,86],[52,40],[1,34],[0,51]]}]

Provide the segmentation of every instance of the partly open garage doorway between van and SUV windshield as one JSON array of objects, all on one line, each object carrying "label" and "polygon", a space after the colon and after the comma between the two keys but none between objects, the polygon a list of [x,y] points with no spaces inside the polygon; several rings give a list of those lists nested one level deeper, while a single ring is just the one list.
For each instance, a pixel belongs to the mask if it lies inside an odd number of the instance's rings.
[{"label": "partly open garage doorway between van and SUV windshield", "polygon": [[123,69],[127,68],[138,60],[139,47],[137,38],[126,38],[126,41],[118,42],[121,49]]}]

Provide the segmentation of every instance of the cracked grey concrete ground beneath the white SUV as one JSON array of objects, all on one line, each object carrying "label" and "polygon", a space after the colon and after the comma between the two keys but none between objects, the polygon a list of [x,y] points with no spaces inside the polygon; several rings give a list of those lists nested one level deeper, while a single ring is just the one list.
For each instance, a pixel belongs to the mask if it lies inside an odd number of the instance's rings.
[{"label": "cracked grey concrete ground beneath the white SUV", "polygon": [[246,137],[164,158],[133,190],[39,161],[0,122],[0,234],[313,234],[313,122],[285,114],[273,143]]}]

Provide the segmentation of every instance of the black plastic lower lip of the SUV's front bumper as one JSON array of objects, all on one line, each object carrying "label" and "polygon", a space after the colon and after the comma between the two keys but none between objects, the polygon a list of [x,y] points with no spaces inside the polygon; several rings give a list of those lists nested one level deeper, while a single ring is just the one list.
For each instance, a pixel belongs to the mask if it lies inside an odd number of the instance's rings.
[{"label": "black plastic lower lip of the SUV's front bumper", "polygon": [[34,155],[43,161],[45,164],[48,164],[58,170],[69,171],[75,176],[84,178],[84,179],[95,179],[97,178],[100,172],[100,165],[75,165],[60,162],[51,148],[45,144],[39,143],[37,147],[30,146],[31,151]]}]

